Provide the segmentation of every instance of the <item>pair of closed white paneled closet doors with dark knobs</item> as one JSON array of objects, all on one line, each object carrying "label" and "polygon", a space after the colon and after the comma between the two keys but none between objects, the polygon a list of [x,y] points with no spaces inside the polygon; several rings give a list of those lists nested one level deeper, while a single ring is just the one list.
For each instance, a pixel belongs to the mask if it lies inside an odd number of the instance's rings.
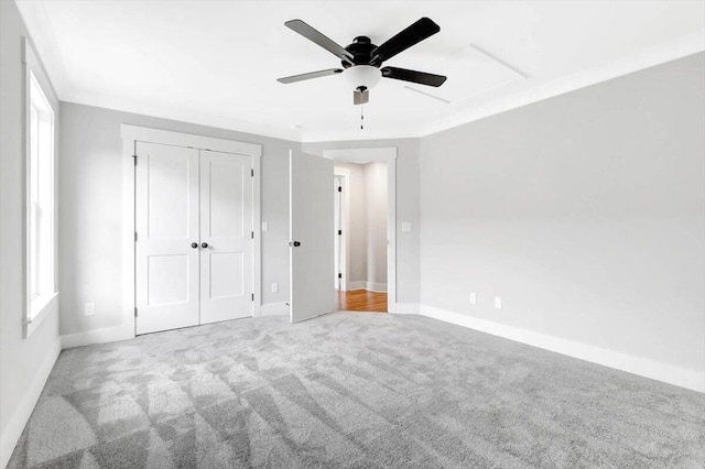
[{"label": "pair of closed white paneled closet doors with dark knobs", "polygon": [[135,334],[252,316],[252,156],[134,149]]}]

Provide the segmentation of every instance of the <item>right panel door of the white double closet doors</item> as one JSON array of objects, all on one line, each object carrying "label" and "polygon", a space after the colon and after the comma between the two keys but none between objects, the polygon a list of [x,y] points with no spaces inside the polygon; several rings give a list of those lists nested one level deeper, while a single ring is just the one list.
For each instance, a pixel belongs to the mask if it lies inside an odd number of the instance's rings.
[{"label": "right panel door of the white double closet doors", "polygon": [[200,152],[200,324],[252,316],[251,171],[250,156]]}]

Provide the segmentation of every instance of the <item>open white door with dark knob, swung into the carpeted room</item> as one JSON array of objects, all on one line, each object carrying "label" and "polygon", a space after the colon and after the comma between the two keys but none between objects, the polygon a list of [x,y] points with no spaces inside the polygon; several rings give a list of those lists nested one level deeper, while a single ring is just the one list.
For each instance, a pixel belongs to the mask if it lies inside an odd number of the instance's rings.
[{"label": "open white door with dark knob, swung into the carpeted room", "polygon": [[335,310],[333,161],[293,150],[289,153],[291,321]]}]

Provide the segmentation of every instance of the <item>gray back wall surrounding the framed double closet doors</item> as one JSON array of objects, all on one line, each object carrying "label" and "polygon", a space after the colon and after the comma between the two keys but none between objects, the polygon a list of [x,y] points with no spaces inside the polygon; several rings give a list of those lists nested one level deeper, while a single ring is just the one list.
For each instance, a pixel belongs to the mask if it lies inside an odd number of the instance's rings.
[{"label": "gray back wall surrounding the framed double closet doors", "polygon": [[[300,143],[67,102],[61,109],[62,334],[122,323],[122,123],[262,145],[262,303],[289,299],[289,150]],[[84,303],[96,304],[95,316],[84,315]]]}]

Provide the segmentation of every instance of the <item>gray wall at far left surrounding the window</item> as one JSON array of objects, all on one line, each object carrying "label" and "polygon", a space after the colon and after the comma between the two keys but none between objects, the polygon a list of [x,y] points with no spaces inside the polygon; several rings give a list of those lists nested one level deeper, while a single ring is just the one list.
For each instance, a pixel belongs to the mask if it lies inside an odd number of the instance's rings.
[{"label": "gray wall at far left surrounding the window", "polygon": [[[23,338],[26,160],[22,36],[29,34],[15,3],[0,1],[0,467],[10,459],[59,350],[56,313]],[[46,81],[37,79],[46,88]],[[58,129],[58,101],[51,92],[47,98]]]}]

